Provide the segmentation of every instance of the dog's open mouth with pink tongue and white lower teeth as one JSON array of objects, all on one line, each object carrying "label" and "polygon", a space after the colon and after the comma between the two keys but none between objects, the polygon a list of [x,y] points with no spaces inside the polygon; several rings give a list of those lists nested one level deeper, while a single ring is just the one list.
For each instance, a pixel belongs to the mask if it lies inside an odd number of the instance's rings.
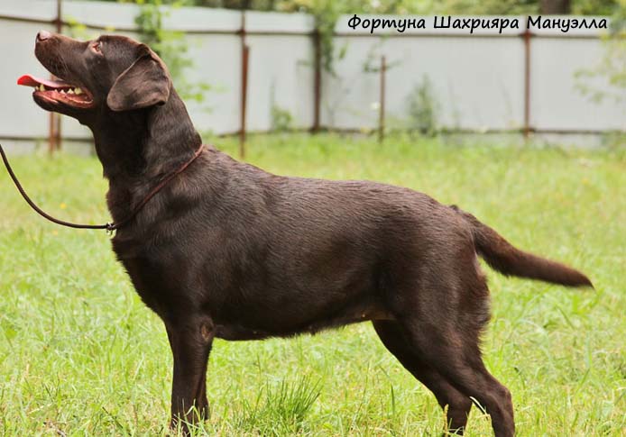
[{"label": "dog's open mouth with pink tongue and white lower teeth", "polygon": [[24,75],[17,79],[17,85],[35,88],[32,96],[52,104],[63,104],[76,108],[90,108],[94,100],[87,89],[71,85],[63,80],[41,79]]}]

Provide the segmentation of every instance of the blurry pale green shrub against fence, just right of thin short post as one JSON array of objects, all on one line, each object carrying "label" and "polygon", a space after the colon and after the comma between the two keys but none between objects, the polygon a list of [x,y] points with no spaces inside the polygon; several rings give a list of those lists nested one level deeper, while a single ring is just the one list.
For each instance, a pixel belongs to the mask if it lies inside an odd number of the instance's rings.
[{"label": "blurry pale green shrub against fence, just right of thin short post", "polygon": [[407,97],[410,132],[433,136],[437,133],[439,104],[433,93],[432,82],[424,76]]}]

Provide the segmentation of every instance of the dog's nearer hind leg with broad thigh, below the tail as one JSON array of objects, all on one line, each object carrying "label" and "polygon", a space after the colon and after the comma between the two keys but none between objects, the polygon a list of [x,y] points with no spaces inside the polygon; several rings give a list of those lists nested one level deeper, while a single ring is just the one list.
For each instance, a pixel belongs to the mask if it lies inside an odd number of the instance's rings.
[{"label": "dog's nearer hind leg with broad thigh, below the tail", "polygon": [[[489,290],[475,256],[456,256],[397,288],[392,312],[403,338],[431,369],[492,417],[496,437],[515,432],[511,393],[485,369],[479,337],[489,319]],[[405,277],[406,278],[406,277]]]}]

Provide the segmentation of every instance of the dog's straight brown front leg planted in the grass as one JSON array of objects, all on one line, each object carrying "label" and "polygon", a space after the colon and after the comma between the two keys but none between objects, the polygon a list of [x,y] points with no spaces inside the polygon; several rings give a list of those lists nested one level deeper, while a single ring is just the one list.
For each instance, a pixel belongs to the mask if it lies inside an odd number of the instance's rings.
[{"label": "dog's straight brown front leg planted in the grass", "polygon": [[171,385],[171,426],[189,432],[189,424],[208,418],[207,361],[215,336],[205,316],[165,323],[174,356]]}]

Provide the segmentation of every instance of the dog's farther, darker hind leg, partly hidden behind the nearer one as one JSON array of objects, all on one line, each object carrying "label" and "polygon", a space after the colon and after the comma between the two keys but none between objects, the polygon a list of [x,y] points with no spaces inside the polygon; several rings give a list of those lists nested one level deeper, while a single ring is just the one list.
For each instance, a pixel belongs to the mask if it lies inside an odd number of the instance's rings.
[{"label": "dog's farther, darker hind leg, partly hidden behind the nearer one", "polygon": [[398,323],[393,321],[373,321],[373,327],[381,338],[382,344],[400,361],[405,369],[433,392],[441,408],[447,407],[447,431],[462,435],[467,423],[467,415],[472,408],[469,397],[459,392],[437,370],[428,366],[419,358]]}]

